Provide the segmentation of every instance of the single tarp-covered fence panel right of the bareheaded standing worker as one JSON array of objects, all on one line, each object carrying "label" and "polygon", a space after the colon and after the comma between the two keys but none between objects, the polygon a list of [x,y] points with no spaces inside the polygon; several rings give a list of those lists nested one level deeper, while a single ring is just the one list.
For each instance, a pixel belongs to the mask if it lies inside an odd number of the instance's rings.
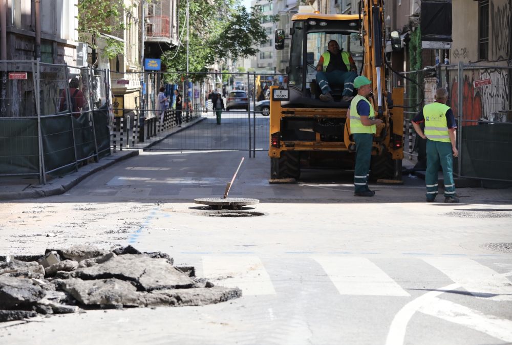
[{"label": "single tarp-covered fence panel right of the bareheaded standing worker", "polygon": [[451,106],[459,119],[460,177],[487,184],[512,181],[511,70],[477,64],[450,70]]}]

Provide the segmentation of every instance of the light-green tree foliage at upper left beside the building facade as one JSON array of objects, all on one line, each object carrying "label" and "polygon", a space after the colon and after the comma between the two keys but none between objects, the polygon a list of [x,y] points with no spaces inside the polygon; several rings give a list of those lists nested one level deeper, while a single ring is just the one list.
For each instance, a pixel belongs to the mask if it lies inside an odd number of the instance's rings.
[{"label": "light-green tree foliage at upper left beside the building facade", "polygon": [[[122,20],[124,7],[122,0],[78,0],[78,39],[97,49],[97,39],[101,33],[116,35],[124,30]],[[103,56],[114,58],[123,53],[123,42],[106,39]],[[93,61],[94,63],[95,61]]]}]

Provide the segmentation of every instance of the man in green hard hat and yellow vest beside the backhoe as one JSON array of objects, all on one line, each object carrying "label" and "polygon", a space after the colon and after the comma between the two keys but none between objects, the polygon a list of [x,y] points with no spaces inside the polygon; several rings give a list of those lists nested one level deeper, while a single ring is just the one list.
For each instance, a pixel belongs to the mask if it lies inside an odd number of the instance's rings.
[{"label": "man in green hard hat and yellow vest beside the backhoe", "polygon": [[372,92],[371,81],[365,76],[354,79],[357,96],[350,102],[347,117],[350,118],[350,133],[355,141],[356,156],[354,168],[354,196],[373,197],[375,191],[368,188],[368,173],[372,157],[373,135],[376,124],[382,120],[375,119],[375,111],[368,101]]}]

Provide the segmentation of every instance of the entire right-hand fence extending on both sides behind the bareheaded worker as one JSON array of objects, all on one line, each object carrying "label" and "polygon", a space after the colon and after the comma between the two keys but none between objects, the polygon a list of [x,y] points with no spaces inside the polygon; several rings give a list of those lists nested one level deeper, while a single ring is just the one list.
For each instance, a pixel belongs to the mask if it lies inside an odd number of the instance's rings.
[{"label": "entire right-hand fence extending on both sides behind the bareheaded worker", "polygon": [[[447,104],[452,108],[457,122],[458,158],[454,159],[454,174],[461,178],[490,181],[512,181],[512,99],[510,95],[511,67],[497,65],[458,64],[440,65],[422,71],[406,72],[404,75],[421,85],[405,81],[406,109],[404,135],[406,157],[408,139],[413,141],[413,151],[419,157],[426,152],[425,140],[416,138],[410,120],[424,104],[434,101],[438,87],[447,89]],[[435,71],[435,73],[433,73]],[[402,81],[403,83],[403,81]],[[395,78],[394,85],[399,84]],[[402,84],[403,85],[403,84]],[[423,102],[421,98],[424,97]],[[418,104],[418,106],[414,106]],[[409,148],[409,157],[415,155]],[[487,181],[487,182],[485,182]]]}]

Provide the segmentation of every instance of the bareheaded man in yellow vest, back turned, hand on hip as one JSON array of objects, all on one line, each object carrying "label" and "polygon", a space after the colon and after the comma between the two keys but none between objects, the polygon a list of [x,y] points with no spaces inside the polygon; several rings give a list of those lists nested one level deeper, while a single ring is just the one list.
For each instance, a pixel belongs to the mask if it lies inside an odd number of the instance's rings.
[{"label": "bareheaded man in yellow vest, back turned, hand on hip", "polygon": [[[426,139],[426,201],[436,201],[438,172],[442,167],[444,202],[458,203],[453,180],[453,157],[459,155],[455,147],[457,124],[452,109],[446,105],[448,91],[445,88],[437,89],[435,98],[434,103],[425,105],[412,120],[416,133]],[[421,122],[425,122],[424,133],[419,125]]]}]

